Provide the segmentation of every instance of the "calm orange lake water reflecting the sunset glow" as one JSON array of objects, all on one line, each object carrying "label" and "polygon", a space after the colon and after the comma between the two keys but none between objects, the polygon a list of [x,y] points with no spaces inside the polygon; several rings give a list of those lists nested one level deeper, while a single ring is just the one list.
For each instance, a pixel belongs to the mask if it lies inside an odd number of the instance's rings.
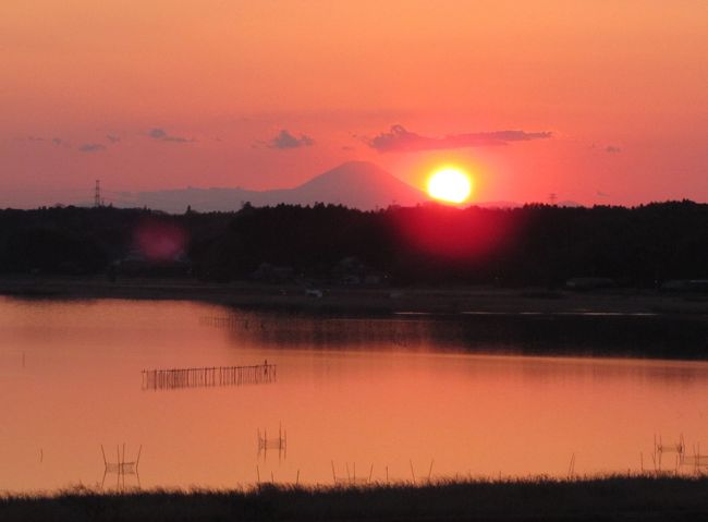
[{"label": "calm orange lake water reflecting the sunset glow", "polygon": [[[331,484],[332,466],[374,481],[565,476],[572,459],[577,474],[639,471],[655,434],[708,452],[706,363],[469,354],[441,328],[455,325],[0,298],[0,490],[100,485],[101,445],[112,461],[142,445],[142,487]],[[276,383],[142,386],[146,368],[265,360]],[[259,453],[257,432],[281,426],[286,452]]]}]

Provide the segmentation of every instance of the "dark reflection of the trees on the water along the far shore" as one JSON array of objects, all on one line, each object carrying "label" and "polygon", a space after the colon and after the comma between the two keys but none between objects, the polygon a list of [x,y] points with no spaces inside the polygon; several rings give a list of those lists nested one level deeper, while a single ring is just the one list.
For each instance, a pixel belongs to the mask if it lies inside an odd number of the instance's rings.
[{"label": "dark reflection of the trees on the water along the far shore", "polygon": [[396,314],[393,317],[312,317],[232,312],[203,316],[234,340],[276,347],[379,347],[538,355],[701,357],[705,318],[652,313]]}]

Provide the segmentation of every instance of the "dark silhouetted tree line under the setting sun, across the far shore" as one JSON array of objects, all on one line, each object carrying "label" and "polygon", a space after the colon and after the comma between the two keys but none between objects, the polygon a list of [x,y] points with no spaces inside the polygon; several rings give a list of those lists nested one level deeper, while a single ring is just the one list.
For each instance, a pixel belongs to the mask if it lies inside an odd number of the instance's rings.
[{"label": "dark silhouetted tree line under the setting sun, across the far shore", "polygon": [[[180,230],[184,240],[159,259],[141,252],[136,239],[136,231],[156,224]],[[186,260],[180,265],[184,270],[170,272],[178,256]],[[708,278],[708,205],[425,205],[361,211],[245,204],[233,213],[183,215],[111,207],[0,210],[3,274],[120,271],[127,259],[141,275],[216,281],[261,274],[266,281],[554,287],[595,277],[650,288]]]}]

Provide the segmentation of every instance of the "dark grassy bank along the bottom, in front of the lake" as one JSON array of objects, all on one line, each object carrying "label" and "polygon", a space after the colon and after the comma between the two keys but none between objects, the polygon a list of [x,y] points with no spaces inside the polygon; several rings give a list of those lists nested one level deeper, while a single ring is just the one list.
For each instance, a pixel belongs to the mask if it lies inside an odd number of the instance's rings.
[{"label": "dark grassy bank along the bottom, in front of the lake", "polygon": [[4,497],[0,520],[705,520],[707,491],[705,477],[648,476],[122,495],[74,489],[48,497]]}]

